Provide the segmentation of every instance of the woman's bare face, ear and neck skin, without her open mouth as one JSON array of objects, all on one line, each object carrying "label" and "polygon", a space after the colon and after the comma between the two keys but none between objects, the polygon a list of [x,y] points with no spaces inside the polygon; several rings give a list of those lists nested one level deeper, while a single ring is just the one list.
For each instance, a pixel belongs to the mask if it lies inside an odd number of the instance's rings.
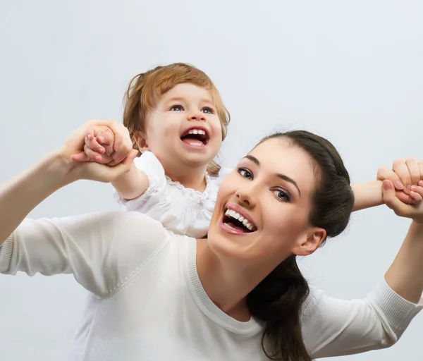
[{"label": "woman's bare face, ear and neck skin, without her open mouth", "polygon": [[[289,255],[309,255],[319,247],[326,231],[308,222],[316,185],[307,152],[283,139],[257,146],[223,181],[209,238],[197,241],[197,270],[207,294],[216,295],[212,300],[224,312],[249,319],[247,294]],[[257,231],[231,234],[221,221],[228,204],[247,212]]]}]

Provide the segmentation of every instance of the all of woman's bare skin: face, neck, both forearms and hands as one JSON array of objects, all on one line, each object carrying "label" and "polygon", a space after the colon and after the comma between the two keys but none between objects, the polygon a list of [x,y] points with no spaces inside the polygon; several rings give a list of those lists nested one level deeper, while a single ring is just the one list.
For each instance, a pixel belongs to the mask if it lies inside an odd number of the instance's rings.
[{"label": "all of woman's bare skin: face, neck, both forearms and hands", "polygon": [[[111,167],[73,160],[74,154],[83,152],[85,135],[95,126],[109,126],[118,133],[114,149],[116,159],[123,157],[121,164]],[[111,182],[127,173],[135,157],[130,149],[128,134],[114,122],[90,122],[75,130],[62,147],[47,154],[20,176],[0,185],[0,242],[8,238],[34,207],[63,186],[80,179]],[[254,161],[243,159],[240,163],[243,170],[233,171],[226,178],[216,200],[209,238],[197,240],[197,272],[204,290],[223,312],[239,321],[250,319],[246,295],[279,262],[290,253],[308,255],[314,252],[324,239],[324,231],[306,221],[311,207],[309,197],[317,181],[307,154],[284,142],[268,140],[250,155],[261,165],[255,168]],[[301,197],[299,193],[295,195],[296,190],[289,182],[275,173],[292,178]],[[419,187],[413,189],[420,195],[423,195],[422,178],[420,174]],[[384,202],[388,207],[413,220],[385,279],[398,295],[417,302],[423,292],[423,206],[422,203],[404,204],[396,197],[392,181],[384,180],[383,183]],[[281,190],[290,193],[290,202],[281,197]],[[249,214],[257,231],[233,235],[222,226],[223,211],[231,203]],[[16,204],[20,207],[14,207]]]}]

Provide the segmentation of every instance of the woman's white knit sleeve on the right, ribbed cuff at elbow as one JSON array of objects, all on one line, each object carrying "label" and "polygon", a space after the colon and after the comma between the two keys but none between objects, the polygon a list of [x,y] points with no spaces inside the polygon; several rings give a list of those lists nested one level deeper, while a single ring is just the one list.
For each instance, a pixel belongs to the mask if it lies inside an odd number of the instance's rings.
[{"label": "woman's white knit sleeve on the right, ribbed cuff at elbow", "polygon": [[315,358],[387,348],[422,310],[382,280],[364,300],[338,300],[312,290],[302,314],[305,344]]}]

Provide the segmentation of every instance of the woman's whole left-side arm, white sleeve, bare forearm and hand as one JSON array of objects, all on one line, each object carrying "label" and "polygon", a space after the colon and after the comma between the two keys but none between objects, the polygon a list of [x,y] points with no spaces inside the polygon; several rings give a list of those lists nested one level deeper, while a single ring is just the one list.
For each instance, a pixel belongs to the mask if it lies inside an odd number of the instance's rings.
[{"label": "woman's whole left-side arm, white sleeve, bare forearm and hand", "polygon": [[135,212],[25,219],[37,204],[68,183],[78,179],[111,181],[130,169],[136,151],[129,137],[125,149],[116,149],[117,157],[126,155],[117,166],[72,160],[91,126],[93,122],[82,126],[58,151],[1,185],[0,272],[72,273],[82,286],[106,296],[163,245],[163,226]]}]

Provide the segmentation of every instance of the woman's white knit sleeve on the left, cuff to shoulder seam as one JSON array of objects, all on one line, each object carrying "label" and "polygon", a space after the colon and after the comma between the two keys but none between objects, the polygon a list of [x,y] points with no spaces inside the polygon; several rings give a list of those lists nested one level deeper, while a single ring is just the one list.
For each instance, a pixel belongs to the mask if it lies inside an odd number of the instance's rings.
[{"label": "woman's white knit sleeve on the left, cuff to shoulder seam", "polygon": [[73,274],[106,297],[123,286],[166,243],[157,221],[137,212],[25,219],[0,247],[0,271]]}]

